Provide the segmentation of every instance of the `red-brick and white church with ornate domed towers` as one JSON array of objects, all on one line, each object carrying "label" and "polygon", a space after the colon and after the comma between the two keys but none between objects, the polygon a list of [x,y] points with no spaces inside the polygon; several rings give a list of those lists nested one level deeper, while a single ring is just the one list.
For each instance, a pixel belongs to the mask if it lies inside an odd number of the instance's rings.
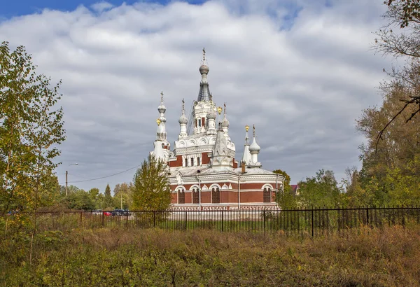
[{"label": "red-brick and white church with ornate domed towers", "polygon": [[236,147],[229,137],[226,104],[222,108],[214,102],[207,79],[209,70],[203,49],[200,91],[188,118],[182,100],[180,130],[173,149],[167,139],[167,109],[161,93],[158,132],[151,154],[167,163],[172,209],[276,209],[276,190],[283,186],[284,178],[261,168],[255,126],[249,144],[246,125],[244,153],[239,162],[235,160]]}]

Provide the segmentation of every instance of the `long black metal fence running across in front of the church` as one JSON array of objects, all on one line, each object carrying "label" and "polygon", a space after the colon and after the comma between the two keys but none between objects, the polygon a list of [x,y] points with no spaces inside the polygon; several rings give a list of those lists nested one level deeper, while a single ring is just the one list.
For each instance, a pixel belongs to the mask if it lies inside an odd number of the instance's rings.
[{"label": "long black metal fence running across in front of the church", "polygon": [[37,213],[38,228],[197,228],[228,232],[281,232],[318,236],[361,226],[420,223],[420,207],[351,207],[293,210],[221,211],[70,211]]}]

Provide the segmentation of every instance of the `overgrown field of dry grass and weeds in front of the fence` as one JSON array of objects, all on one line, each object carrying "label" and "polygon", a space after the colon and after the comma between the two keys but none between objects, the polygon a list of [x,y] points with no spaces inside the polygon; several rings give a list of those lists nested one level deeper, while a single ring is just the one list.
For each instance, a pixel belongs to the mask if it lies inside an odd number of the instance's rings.
[{"label": "overgrown field of dry grass and weeds in front of the fence", "polygon": [[[191,230],[1,234],[0,286],[418,286],[420,227],[316,239]],[[26,237],[25,237],[26,238]]]}]

